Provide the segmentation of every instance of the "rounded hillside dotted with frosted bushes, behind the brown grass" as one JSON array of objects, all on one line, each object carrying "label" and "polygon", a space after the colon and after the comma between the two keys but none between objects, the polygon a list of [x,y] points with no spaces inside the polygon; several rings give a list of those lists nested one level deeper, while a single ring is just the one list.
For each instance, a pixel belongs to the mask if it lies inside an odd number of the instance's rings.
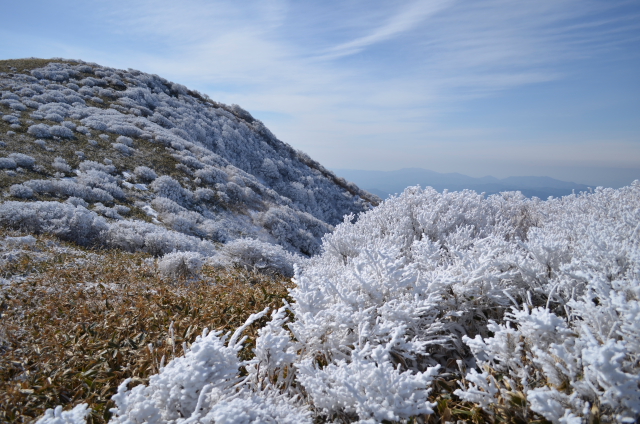
[{"label": "rounded hillside dotted with frosted bushes, behind the brown grass", "polygon": [[153,254],[250,239],[236,250],[277,244],[265,249],[283,257],[319,252],[345,214],[379,201],[239,106],[157,75],[0,65],[3,225]]}]

